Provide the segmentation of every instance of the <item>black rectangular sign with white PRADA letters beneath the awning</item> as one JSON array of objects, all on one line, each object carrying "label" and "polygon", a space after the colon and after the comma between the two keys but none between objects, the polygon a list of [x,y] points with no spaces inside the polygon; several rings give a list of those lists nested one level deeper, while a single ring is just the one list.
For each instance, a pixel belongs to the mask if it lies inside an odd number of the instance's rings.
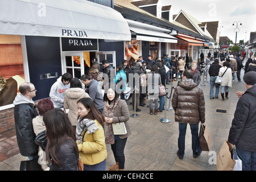
[{"label": "black rectangular sign with white PRADA letters beneath the awning", "polygon": [[62,51],[98,51],[98,39],[61,38]]}]

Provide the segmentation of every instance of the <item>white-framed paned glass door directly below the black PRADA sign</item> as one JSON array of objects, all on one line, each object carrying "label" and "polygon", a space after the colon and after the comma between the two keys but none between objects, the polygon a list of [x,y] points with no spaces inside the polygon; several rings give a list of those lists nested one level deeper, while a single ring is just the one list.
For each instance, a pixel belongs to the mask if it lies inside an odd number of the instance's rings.
[{"label": "white-framed paned glass door directly below the black PRADA sign", "polygon": [[62,72],[70,73],[80,79],[84,74],[84,54],[82,52],[63,52]]}]

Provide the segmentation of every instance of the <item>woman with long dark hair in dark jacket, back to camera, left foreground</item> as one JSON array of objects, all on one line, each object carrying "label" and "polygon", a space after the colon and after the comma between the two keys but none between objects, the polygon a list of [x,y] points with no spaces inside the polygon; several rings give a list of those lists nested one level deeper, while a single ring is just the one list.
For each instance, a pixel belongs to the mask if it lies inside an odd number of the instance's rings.
[{"label": "woman with long dark hair in dark jacket, back to camera, left foreground", "polygon": [[50,171],[78,171],[79,151],[72,125],[61,109],[47,111],[43,117],[46,126],[46,159]]}]

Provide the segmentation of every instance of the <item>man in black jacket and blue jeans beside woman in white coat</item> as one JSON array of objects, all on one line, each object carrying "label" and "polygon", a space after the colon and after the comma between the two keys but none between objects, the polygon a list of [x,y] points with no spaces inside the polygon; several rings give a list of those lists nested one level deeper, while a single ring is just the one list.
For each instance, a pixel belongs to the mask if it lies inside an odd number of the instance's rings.
[{"label": "man in black jacket and blue jeans beside woman in white coat", "polygon": [[220,85],[215,84],[215,77],[218,76],[218,71],[220,71],[221,65],[218,64],[218,59],[214,59],[214,63],[212,65],[210,65],[209,68],[209,75],[210,75],[210,99],[213,99],[214,96],[214,86],[216,87],[215,90],[215,98],[218,98],[218,94],[220,93]]}]

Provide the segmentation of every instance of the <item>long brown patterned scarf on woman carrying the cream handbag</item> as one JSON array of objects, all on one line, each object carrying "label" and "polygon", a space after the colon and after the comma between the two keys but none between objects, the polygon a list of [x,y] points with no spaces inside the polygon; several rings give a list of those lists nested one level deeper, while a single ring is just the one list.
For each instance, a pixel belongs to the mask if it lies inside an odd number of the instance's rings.
[{"label": "long brown patterned scarf on woman carrying the cream handbag", "polygon": [[[109,104],[108,101],[104,101],[104,109],[103,109],[103,115],[108,118],[113,118],[114,115],[114,108],[117,106],[120,98],[118,98],[115,102],[111,102]],[[104,132],[105,132],[105,143],[106,144],[114,144],[114,133],[113,133],[113,127],[112,123],[106,123],[104,122]]]}]

